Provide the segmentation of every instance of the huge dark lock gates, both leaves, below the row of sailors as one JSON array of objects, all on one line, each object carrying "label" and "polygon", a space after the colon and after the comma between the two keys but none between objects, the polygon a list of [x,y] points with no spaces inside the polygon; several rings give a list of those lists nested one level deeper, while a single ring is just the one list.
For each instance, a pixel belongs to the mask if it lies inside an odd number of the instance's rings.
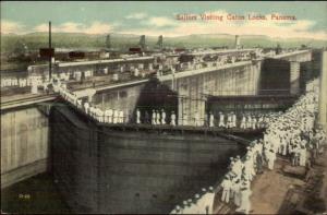
[{"label": "huge dark lock gates, both leaves, below the row of sailors", "polygon": [[66,108],[51,114],[52,169],[77,213],[168,213],[213,186],[240,151],[213,135],[122,131]]}]

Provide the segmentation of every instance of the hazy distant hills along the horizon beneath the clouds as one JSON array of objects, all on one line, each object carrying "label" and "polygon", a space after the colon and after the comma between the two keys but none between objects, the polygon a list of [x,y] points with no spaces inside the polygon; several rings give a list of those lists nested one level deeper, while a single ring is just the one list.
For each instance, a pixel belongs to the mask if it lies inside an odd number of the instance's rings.
[{"label": "hazy distant hills along the horizon beneath the clouds", "polygon": [[[308,45],[314,48],[326,47],[327,40],[315,40],[307,38],[270,38],[264,35],[240,35],[241,45],[249,47],[275,47],[277,43],[281,47],[300,47]],[[157,37],[146,36],[148,47],[154,47]],[[111,44],[116,49],[126,50],[129,47],[136,46],[140,35],[133,34],[111,34]],[[29,33],[25,35],[8,34],[1,35],[1,52],[12,52],[16,44],[25,44],[29,50],[38,50],[48,46],[48,33]],[[52,46],[57,48],[105,48],[106,35],[89,35],[82,33],[52,33]],[[165,37],[164,44],[168,47],[232,47],[234,35],[229,34],[192,34],[179,37]]]}]

